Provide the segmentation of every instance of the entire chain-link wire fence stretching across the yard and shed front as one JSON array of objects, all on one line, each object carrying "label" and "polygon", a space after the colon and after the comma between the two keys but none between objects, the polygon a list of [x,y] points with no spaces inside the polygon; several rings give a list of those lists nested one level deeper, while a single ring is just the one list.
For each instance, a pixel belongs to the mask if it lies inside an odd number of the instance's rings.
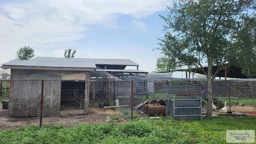
[{"label": "entire chain-link wire fence stretching across the yard and shed front", "polygon": [[[254,79],[215,80],[214,113],[221,113],[224,102],[229,111],[255,111],[254,92]],[[173,110],[170,98],[177,94],[200,95],[201,112],[206,112],[208,82],[205,79],[121,79],[102,71],[13,70],[9,78],[0,80],[0,117],[28,122],[40,118],[42,124],[46,116],[90,115],[90,110],[95,108],[111,108],[129,120],[140,116],[169,116],[168,112]],[[190,111],[193,106],[183,107]]]}]

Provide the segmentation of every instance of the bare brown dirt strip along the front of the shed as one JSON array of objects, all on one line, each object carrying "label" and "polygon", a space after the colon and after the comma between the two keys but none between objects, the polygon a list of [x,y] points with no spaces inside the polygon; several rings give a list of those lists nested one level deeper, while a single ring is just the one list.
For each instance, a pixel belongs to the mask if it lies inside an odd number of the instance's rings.
[{"label": "bare brown dirt strip along the front of the shed", "polygon": [[[122,121],[118,123],[128,122],[126,118],[120,114],[120,112],[112,110],[110,108],[90,108],[88,115],[66,115],[66,116],[44,116],[42,118],[42,124],[64,124],[65,126],[74,126],[78,124],[101,124],[106,122],[107,117],[118,116],[123,118]],[[30,118],[12,118],[8,116],[8,109],[2,109],[2,104],[0,103],[0,130],[1,129],[11,129],[20,128],[31,125],[40,125],[40,117],[30,117]]]}]

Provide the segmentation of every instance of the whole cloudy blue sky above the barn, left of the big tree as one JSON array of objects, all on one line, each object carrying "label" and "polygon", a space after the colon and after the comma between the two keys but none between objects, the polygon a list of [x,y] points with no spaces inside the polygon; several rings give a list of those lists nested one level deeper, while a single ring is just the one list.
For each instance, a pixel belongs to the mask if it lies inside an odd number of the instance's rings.
[{"label": "whole cloudy blue sky above the barn, left of the big tree", "polygon": [[[0,64],[15,59],[20,47],[36,56],[131,59],[152,72],[161,57],[163,36],[172,0],[4,0],[0,1]],[[129,68],[128,69],[132,69]]]}]

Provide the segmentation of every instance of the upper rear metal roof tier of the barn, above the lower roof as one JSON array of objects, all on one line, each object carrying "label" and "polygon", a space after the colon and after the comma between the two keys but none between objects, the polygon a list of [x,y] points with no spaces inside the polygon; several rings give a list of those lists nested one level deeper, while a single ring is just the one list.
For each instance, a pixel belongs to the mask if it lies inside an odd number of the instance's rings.
[{"label": "upper rear metal roof tier of the barn, above the lower roof", "polygon": [[36,57],[31,61],[56,61],[56,62],[94,62],[95,64],[139,66],[136,62],[128,59],[101,59],[101,58],[53,58]]}]

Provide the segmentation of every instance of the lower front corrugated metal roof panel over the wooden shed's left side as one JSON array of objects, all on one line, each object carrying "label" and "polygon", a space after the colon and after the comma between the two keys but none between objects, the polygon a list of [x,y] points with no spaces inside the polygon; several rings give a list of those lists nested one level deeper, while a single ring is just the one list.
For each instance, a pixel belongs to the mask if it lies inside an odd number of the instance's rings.
[{"label": "lower front corrugated metal roof panel over the wooden shed's left side", "polygon": [[94,62],[60,62],[60,61],[36,61],[36,60],[11,60],[3,66],[43,66],[61,68],[96,68]]}]

